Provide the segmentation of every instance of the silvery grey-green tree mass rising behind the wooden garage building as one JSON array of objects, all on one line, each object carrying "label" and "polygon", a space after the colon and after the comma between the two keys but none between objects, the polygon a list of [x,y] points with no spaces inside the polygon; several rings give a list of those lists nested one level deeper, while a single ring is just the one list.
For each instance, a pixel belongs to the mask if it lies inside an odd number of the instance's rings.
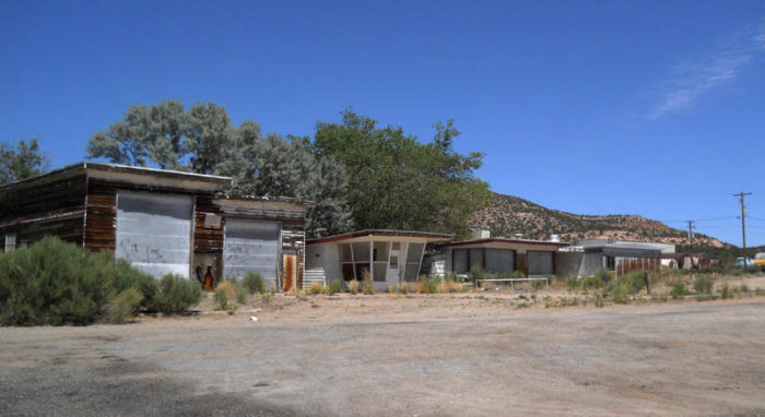
[{"label": "silvery grey-green tree mass rising behind the wooden garage building", "polygon": [[237,129],[214,103],[195,104],[188,111],[173,99],[131,106],[122,120],[91,138],[87,154],[116,164],[228,176],[234,194],[315,202],[307,213],[309,233],[350,228],[341,164],[315,156],[308,138],[263,138],[252,120]]}]

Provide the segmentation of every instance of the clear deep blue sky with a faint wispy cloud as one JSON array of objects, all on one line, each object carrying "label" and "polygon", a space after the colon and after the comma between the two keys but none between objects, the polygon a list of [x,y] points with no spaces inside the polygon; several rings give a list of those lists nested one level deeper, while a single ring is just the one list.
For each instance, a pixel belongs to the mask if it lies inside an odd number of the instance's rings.
[{"label": "clear deep blue sky with a faint wispy cloud", "polygon": [[310,134],[353,107],[428,140],[454,118],[496,192],[765,245],[765,2],[14,2],[0,140],[52,167],[132,104],[215,102]]}]

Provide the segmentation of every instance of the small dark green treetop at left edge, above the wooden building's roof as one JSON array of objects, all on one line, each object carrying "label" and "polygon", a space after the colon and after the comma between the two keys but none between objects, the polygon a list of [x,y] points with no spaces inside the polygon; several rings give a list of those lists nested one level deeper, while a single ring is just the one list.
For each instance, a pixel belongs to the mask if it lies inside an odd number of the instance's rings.
[{"label": "small dark green treetop at left edge, above the wooden building's roof", "polygon": [[0,184],[34,177],[46,171],[46,160],[36,139],[20,141],[14,147],[0,143]]}]

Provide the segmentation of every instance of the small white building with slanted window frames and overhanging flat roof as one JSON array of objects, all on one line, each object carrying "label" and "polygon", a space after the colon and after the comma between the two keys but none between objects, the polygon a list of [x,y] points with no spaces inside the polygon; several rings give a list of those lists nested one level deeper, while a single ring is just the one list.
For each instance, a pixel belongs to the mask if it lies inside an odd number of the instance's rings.
[{"label": "small white building with slanted window frames and overhanging flat roof", "polygon": [[357,230],[306,241],[304,288],[314,282],[362,281],[372,274],[376,290],[420,275],[425,246],[449,241],[454,235],[412,230]]}]

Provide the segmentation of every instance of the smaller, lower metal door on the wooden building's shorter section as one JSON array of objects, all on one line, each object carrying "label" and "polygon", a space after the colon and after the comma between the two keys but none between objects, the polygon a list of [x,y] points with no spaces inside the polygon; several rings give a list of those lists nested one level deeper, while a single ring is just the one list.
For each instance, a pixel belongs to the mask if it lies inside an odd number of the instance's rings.
[{"label": "smaller, lower metal door on the wooden building's shorter section", "polygon": [[276,281],[279,223],[227,218],[223,242],[224,276],[243,277],[258,272],[263,279]]}]

